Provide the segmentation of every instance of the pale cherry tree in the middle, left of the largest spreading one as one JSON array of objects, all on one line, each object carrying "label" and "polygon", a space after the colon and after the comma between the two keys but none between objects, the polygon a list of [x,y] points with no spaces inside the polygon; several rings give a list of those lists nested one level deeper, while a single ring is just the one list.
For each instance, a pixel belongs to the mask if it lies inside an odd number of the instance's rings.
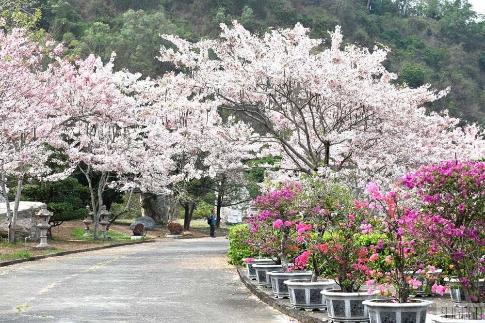
[{"label": "pale cherry tree in the middle, left of the largest spreading one", "polygon": [[[189,79],[190,80],[190,79]],[[254,158],[261,143],[252,128],[234,117],[223,120],[219,103],[195,92],[183,74],[169,73],[140,91],[144,107],[144,145],[136,182],[146,190],[171,191],[171,205],[194,205],[188,192],[198,181],[220,173],[241,177],[242,161]],[[189,228],[190,217],[184,227]]]}]

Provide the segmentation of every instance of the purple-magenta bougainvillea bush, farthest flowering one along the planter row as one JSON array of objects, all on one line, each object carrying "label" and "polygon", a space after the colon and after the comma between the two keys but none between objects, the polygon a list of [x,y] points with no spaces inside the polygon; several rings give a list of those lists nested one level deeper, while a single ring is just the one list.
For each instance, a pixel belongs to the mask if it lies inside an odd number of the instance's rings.
[{"label": "purple-magenta bougainvillea bush, farthest flowering one along the planter row", "polygon": [[270,187],[257,197],[254,205],[259,214],[248,223],[252,238],[248,241],[253,249],[277,258],[284,271],[290,270],[288,257],[298,251],[295,238],[295,221],[299,222],[296,200],[302,188],[296,183],[280,183]]}]

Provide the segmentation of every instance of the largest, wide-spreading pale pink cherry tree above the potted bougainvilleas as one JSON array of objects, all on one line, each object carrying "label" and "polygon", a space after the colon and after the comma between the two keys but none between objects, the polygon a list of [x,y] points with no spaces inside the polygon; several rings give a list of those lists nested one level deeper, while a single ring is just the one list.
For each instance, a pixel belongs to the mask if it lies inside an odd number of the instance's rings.
[{"label": "largest, wide-spreading pale pink cherry tree above the potted bougainvilleas", "polygon": [[422,107],[448,89],[391,84],[397,75],[382,65],[388,49],[341,49],[337,26],[329,48],[314,54],[322,40],[310,39],[300,24],[264,36],[233,24],[221,24],[222,41],[163,35],[178,51],[162,46],[160,59],[190,71],[185,82],[194,92],[261,129],[258,140],[266,153],[283,156],[282,169],[356,172],[363,183],[386,182],[455,152],[483,152],[478,127],[460,128]]}]

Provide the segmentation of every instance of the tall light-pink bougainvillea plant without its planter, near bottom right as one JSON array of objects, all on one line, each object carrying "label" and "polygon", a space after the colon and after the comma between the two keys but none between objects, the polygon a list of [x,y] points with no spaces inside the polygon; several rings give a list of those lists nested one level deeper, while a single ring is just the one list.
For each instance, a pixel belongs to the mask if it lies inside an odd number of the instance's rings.
[{"label": "tall light-pink bougainvillea plant without its planter, near bottom right", "polygon": [[[414,227],[416,212],[413,207],[416,204],[397,188],[382,193],[377,185],[370,183],[366,193],[371,202],[356,201],[356,208],[372,214],[369,221],[373,230],[384,235],[369,257],[368,292],[372,293],[373,286],[377,285],[379,294],[405,303],[409,295],[422,286],[421,277],[436,278],[434,267],[425,267],[430,257],[427,242],[419,238]],[[361,228],[367,230],[365,225]],[[444,287],[435,284],[431,290],[443,294]]]}]

